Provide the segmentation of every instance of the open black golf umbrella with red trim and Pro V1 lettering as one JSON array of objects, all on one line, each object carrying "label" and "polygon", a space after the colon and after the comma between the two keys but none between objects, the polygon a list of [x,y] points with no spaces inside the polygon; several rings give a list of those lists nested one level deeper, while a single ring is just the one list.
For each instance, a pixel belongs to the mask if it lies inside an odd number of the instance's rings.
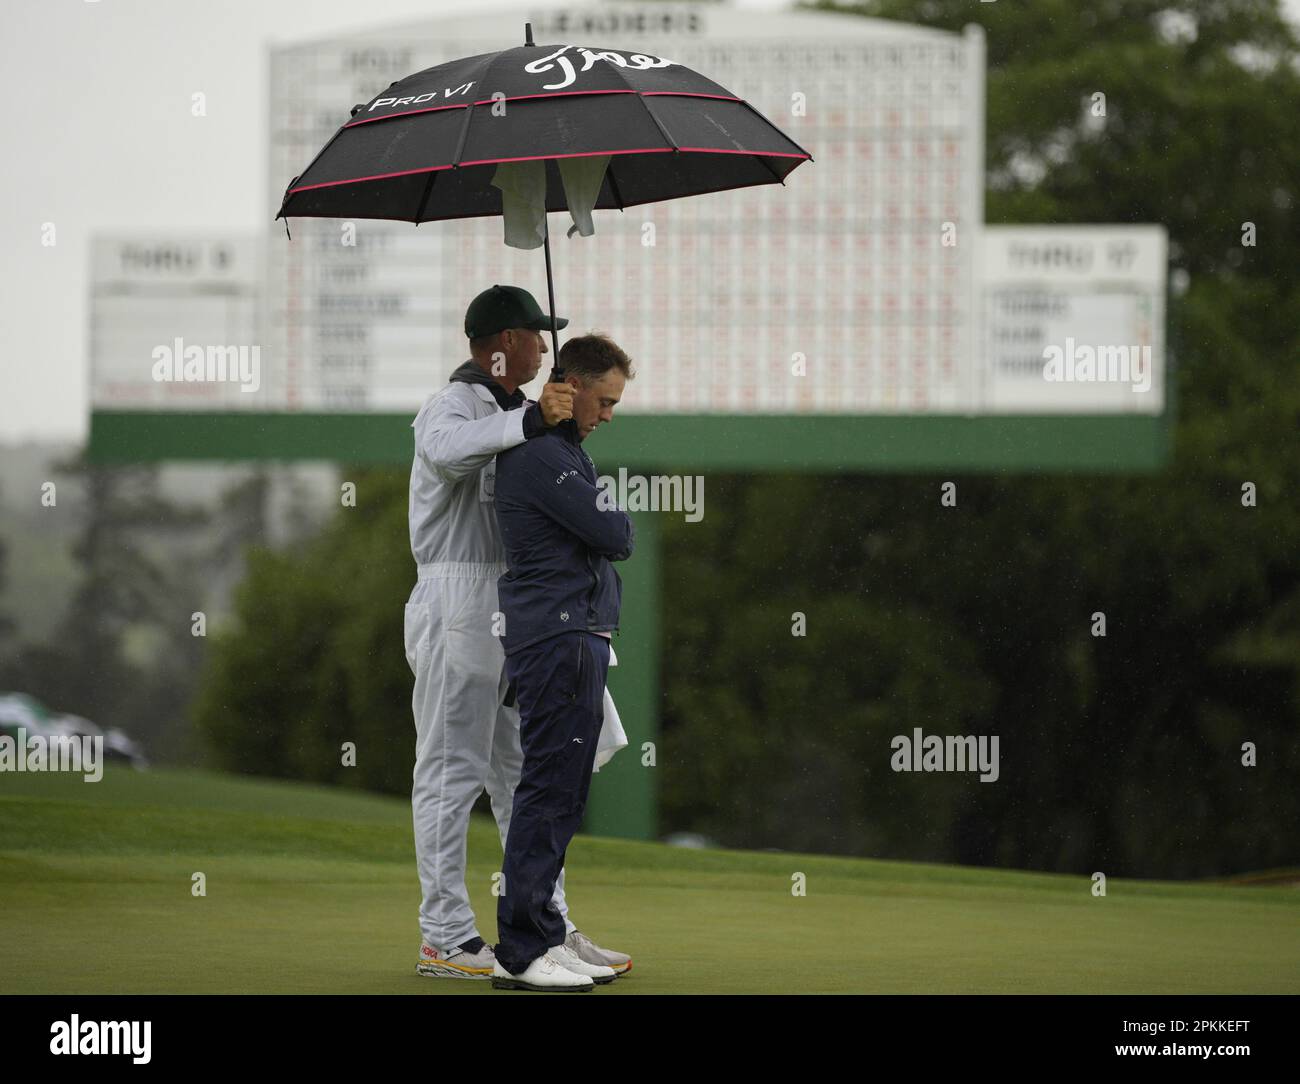
[{"label": "open black golf umbrella with red trim and Pro V1 lettering", "polygon": [[[546,209],[568,204],[556,159],[608,156],[597,208],[784,183],[811,159],[749,103],[671,60],[528,44],[439,64],[352,108],[285,192],[277,218],[432,222],[502,213],[502,162],[543,160]],[[555,312],[550,238],[546,285]],[[551,344],[558,354],[555,329]]]}]

